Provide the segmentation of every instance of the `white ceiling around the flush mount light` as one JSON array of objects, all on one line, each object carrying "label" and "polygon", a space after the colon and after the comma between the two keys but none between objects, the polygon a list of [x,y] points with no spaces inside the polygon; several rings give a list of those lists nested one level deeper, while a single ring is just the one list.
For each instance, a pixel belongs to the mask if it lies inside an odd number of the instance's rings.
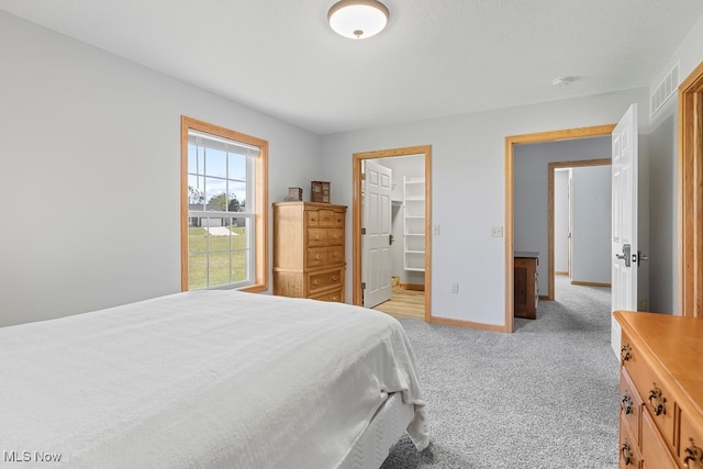
[{"label": "white ceiling around the flush mount light", "polygon": [[[317,134],[648,86],[701,0],[0,0],[0,9]],[[574,77],[554,87],[560,76]]]}]

